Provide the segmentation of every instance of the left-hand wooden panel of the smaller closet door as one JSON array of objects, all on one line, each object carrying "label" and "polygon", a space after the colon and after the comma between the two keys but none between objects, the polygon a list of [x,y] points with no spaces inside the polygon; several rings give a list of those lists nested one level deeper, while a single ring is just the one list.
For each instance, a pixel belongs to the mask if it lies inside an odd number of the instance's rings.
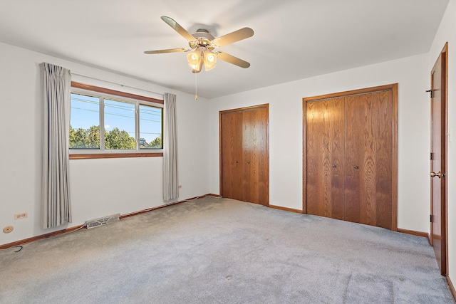
[{"label": "left-hand wooden panel of the smaller closet door", "polygon": [[225,112],[220,117],[222,196],[244,199],[242,111]]}]

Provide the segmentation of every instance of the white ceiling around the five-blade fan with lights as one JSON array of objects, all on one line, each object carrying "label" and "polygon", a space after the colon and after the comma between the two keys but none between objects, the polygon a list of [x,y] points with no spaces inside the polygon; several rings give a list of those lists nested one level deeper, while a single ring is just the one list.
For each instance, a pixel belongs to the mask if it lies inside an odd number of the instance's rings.
[{"label": "white ceiling around the five-blade fan with lights", "polygon": [[[223,61],[197,74],[214,98],[427,53],[448,0],[0,0],[0,41],[195,93],[185,48],[160,16],[213,36],[250,27],[254,36],[217,50]],[[393,73],[393,71],[392,71]]]}]

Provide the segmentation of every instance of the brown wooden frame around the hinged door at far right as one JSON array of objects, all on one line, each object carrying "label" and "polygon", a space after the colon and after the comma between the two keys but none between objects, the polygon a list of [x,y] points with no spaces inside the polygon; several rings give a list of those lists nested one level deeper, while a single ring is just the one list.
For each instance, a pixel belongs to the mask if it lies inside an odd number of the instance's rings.
[{"label": "brown wooden frame around the hinged door at far right", "polygon": [[[432,70],[430,72],[430,80],[431,80],[431,93],[433,90],[433,82],[432,82],[432,74],[435,70],[436,64],[439,61],[440,57],[442,58],[442,66],[441,68],[444,68],[445,70],[442,71],[441,76],[444,79],[441,79],[441,86],[444,88],[445,93],[441,94],[441,103],[442,107],[445,107],[445,113],[442,115],[442,120],[440,121],[440,126],[442,128],[441,130],[441,135],[443,137],[442,140],[442,146],[441,147],[441,161],[445,162],[443,166],[443,173],[447,173],[448,170],[448,147],[447,147],[447,134],[448,134],[448,43],[445,43],[445,46],[443,46],[442,51],[440,51],[439,56],[437,57],[437,60],[435,61],[435,65],[432,67]],[[432,98],[432,94],[431,94]],[[431,103],[431,112],[430,112],[430,119],[431,119],[431,149],[432,149],[432,103]],[[431,159],[432,160],[432,159]],[[442,166],[441,166],[442,167]],[[430,163],[430,171],[432,172],[432,162]],[[443,191],[440,193],[440,229],[442,231],[442,239],[440,243],[440,273],[442,276],[447,276],[448,275],[448,201],[447,201],[447,196],[448,196],[448,182],[447,178],[443,177],[441,179],[441,187],[443,187]],[[429,235],[429,241],[431,246],[433,247],[433,241],[432,241],[432,217],[434,214],[432,214],[433,211],[433,199],[432,199],[432,182],[430,183],[430,214],[431,214],[431,220],[430,220],[430,235]]]}]

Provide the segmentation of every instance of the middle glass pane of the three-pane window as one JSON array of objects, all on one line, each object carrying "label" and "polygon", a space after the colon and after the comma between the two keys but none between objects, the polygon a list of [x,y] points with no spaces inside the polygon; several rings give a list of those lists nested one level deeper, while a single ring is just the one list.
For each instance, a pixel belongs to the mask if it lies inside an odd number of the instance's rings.
[{"label": "middle glass pane of the three-pane window", "polygon": [[105,99],[105,149],[136,149],[135,104]]}]

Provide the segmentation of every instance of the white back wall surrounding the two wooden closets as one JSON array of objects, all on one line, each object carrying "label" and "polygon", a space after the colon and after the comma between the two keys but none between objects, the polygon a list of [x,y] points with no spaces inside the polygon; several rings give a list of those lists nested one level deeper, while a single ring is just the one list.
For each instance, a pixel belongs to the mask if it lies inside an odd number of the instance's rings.
[{"label": "white back wall surrounding the two wooden closets", "polygon": [[220,110],[269,103],[270,201],[302,209],[302,98],[398,83],[398,228],[429,232],[427,54],[210,100],[210,192],[219,193]]}]

